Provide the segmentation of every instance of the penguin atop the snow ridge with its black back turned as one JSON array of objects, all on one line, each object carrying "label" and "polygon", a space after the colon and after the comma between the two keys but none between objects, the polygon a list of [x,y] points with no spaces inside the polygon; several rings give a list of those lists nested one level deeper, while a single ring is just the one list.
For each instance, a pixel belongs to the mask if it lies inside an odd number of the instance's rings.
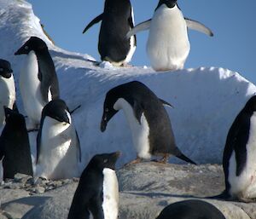
[{"label": "penguin atop the snow ridge with its black back turned", "polygon": [[137,44],[135,35],[125,37],[134,27],[130,0],[106,0],[103,13],[91,20],[84,32],[101,20],[98,51],[102,61],[109,61],[113,66],[125,66],[131,61]]}]

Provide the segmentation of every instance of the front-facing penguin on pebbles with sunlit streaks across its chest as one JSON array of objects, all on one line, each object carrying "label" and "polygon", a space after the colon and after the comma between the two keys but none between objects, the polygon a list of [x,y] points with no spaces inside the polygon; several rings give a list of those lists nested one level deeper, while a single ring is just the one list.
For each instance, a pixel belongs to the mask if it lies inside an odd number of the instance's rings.
[{"label": "front-facing penguin on pebbles with sunlit streaks across its chest", "polygon": [[79,136],[65,101],[49,101],[37,136],[36,176],[59,180],[79,176]]}]

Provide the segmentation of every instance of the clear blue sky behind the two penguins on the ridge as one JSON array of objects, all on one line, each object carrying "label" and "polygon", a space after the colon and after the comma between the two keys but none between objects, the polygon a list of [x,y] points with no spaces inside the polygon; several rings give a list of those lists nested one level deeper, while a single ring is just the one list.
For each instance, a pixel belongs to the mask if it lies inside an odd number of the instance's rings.
[{"label": "clear blue sky behind the two penguins on the ridge", "polygon": [[[63,49],[92,55],[97,51],[100,24],[82,34],[84,27],[102,13],[104,1],[28,0],[45,30]],[[131,0],[135,23],[152,17],[158,1]],[[229,68],[256,84],[256,1],[190,0],[178,1],[183,15],[212,29],[214,37],[189,31],[190,53],[185,67]],[[137,50],[131,64],[150,66],[146,55],[148,32],[137,33]]]}]

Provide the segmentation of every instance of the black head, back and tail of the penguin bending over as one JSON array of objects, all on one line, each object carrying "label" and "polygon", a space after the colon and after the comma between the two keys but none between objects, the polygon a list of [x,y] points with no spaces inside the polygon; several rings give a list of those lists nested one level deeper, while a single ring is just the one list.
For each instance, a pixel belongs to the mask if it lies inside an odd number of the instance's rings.
[{"label": "black head, back and tail of the penguin bending over", "polygon": [[127,84],[121,84],[108,91],[104,102],[101,125],[102,131],[106,129],[108,121],[113,115],[118,112],[113,109],[113,105],[119,98],[125,99],[125,101],[131,105],[139,124],[141,124],[143,114],[147,119],[149,126],[149,153],[154,155],[171,153],[177,158],[195,164],[195,162],[184,156],[176,147],[172,124],[165,107],[163,107],[163,104],[171,105],[159,99],[154,92],[148,89],[143,83],[132,81]]}]

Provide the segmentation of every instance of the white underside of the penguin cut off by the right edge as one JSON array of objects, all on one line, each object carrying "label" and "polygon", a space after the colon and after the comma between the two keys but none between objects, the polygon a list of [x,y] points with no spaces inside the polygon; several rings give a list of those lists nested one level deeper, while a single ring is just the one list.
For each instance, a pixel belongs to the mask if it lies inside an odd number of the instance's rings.
[{"label": "white underside of the penguin cut off by the right edge", "polygon": [[239,194],[242,198],[256,198],[256,112],[250,119],[250,130],[247,141],[247,160],[240,176],[236,176],[236,154],[230,158],[230,192]]}]

